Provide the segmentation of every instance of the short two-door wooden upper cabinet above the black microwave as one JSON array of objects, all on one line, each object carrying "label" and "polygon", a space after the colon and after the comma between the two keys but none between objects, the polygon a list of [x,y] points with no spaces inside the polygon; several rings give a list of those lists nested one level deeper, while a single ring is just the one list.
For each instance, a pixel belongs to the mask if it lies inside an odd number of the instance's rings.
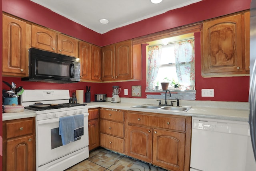
[{"label": "short two-door wooden upper cabinet above the black microwave", "polygon": [[58,34],[50,29],[42,28],[40,26],[32,25],[31,46],[77,57],[78,41],[66,35]]}]

